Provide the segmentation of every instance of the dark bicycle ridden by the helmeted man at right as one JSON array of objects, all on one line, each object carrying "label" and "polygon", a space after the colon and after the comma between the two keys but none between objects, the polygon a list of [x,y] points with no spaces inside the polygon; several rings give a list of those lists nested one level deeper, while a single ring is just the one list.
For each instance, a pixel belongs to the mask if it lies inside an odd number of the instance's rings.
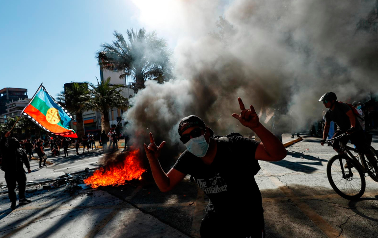
[{"label": "dark bicycle ridden by the helmeted man at right", "polygon": [[[356,149],[340,142],[341,138],[349,136],[344,133],[340,136],[326,140],[340,144],[338,155],[333,156],[327,164],[327,177],[332,189],[341,197],[353,200],[360,198],[366,188],[365,173],[378,182],[378,164],[365,159],[365,155],[358,153]],[[370,146],[374,159],[378,161],[377,151]],[[359,160],[351,153],[357,152]],[[344,153],[342,153],[344,152]],[[346,165],[344,167],[344,165]]]}]

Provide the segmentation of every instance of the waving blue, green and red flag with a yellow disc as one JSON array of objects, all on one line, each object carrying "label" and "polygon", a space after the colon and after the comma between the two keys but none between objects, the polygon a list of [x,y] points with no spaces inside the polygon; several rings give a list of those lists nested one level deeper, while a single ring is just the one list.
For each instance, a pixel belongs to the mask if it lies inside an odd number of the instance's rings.
[{"label": "waving blue, green and red flag with a yellow disc", "polygon": [[76,132],[68,128],[73,117],[49,95],[42,84],[21,114],[55,135],[78,138]]}]

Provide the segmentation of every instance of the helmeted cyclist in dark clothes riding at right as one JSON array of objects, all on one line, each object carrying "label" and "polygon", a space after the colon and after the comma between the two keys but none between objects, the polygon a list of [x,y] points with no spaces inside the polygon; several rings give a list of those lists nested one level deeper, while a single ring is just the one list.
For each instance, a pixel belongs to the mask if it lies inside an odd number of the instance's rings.
[{"label": "helmeted cyclist in dark clothes riding at right", "polygon": [[[325,93],[320,99],[319,102],[323,101],[324,106],[327,108],[325,112],[325,124],[323,130],[323,140],[321,144],[324,145],[325,140],[328,136],[330,122],[334,121],[337,125],[337,130],[333,134],[332,138],[335,138],[341,134],[347,132],[350,137],[344,137],[340,141],[344,144],[347,144],[349,140],[353,143],[359,153],[365,154],[366,158],[374,163],[377,163],[374,159],[374,156],[369,148],[369,143],[366,140],[365,133],[362,130],[362,127],[356,116],[354,115],[351,107],[346,104],[337,101],[337,96],[335,93],[328,92]],[[332,143],[333,149],[336,150],[339,154],[343,154],[343,151],[340,151],[339,143]],[[347,167],[347,164],[345,165]]]}]

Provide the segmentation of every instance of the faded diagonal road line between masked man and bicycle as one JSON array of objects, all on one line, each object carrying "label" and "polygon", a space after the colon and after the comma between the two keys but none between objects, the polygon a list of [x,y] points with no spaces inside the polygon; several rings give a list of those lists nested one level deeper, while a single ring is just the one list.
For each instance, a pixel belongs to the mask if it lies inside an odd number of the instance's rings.
[{"label": "faded diagonal road line between masked man and bicycle", "polygon": [[334,229],[331,225],[328,224],[327,221],[323,219],[322,216],[317,214],[314,210],[312,210],[302,198],[298,197],[294,194],[292,190],[286,187],[277,177],[269,177],[270,180],[281,190],[287,198],[289,198],[298,208],[305,214],[314,224],[321,229],[325,235],[329,238],[343,238],[343,236],[339,236],[340,232]]}]

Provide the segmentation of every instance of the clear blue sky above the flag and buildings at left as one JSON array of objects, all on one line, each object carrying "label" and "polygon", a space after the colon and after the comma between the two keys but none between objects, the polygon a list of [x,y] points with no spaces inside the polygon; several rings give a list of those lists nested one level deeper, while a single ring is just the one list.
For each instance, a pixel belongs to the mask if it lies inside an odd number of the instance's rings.
[{"label": "clear blue sky above the flag and buildings at left", "polygon": [[96,82],[100,44],[143,27],[138,16],[128,0],[1,1],[0,88],[26,88],[30,98],[43,82],[56,97],[64,83]]}]

